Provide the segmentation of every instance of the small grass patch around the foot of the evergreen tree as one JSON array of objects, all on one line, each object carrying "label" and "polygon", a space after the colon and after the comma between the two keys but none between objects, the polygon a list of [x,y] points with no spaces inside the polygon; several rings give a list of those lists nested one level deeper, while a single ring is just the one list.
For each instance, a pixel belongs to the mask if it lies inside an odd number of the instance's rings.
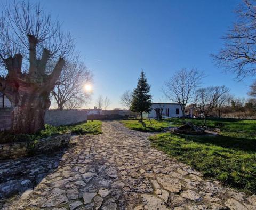
[{"label": "small grass patch around the foot of the evergreen tree", "polygon": [[170,127],[170,126],[177,126],[177,124],[169,122],[169,121],[158,121],[155,119],[151,119],[151,124],[148,119],[143,120],[146,124],[146,127],[143,127],[141,123],[138,122],[138,119],[131,119],[131,120],[122,120],[121,123],[124,124],[125,127],[130,128],[136,131],[147,131],[147,132],[159,132],[163,131],[163,128]]}]

